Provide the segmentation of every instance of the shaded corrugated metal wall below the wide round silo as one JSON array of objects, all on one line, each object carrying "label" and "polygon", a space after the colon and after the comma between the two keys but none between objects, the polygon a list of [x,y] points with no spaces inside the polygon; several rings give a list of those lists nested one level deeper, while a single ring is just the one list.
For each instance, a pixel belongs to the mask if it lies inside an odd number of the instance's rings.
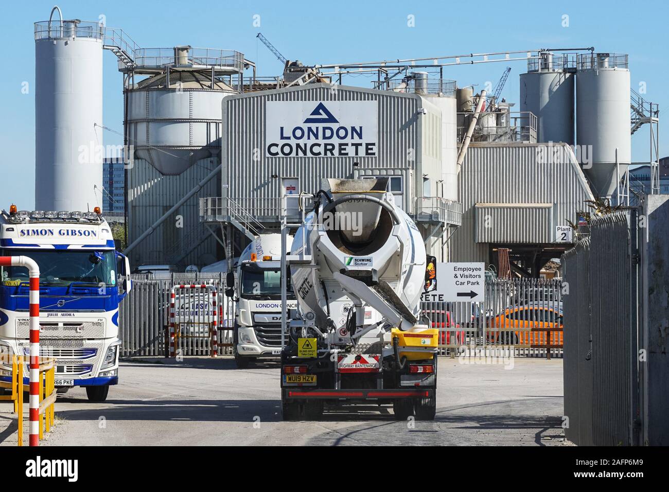
[{"label": "shaded corrugated metal wall below the wide round silo", "polygon": [[[179,175],[163,175],[148,161],[136,159],[127,172],[128,238],[138,238],[155,224],[177,200],[217,166],[217,159],[201,159]],[[160,224],[153,234],[132,250],[132,265],[171,264],[203,266],[216,261],[216,240],[199,220],[197,200],[219,190],[214,177],[172,217]]]}]

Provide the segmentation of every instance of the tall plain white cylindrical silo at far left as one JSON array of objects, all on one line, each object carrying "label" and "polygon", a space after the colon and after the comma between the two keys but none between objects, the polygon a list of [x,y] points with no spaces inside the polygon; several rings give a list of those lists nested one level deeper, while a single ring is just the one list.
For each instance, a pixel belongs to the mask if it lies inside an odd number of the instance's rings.
[{"label": "tall plain white cylindrical silo at far left", "polygon": [[[98,126],[96,126],[98,125]],[[35,23],[35,208],[102,208],[102,27]]]}]

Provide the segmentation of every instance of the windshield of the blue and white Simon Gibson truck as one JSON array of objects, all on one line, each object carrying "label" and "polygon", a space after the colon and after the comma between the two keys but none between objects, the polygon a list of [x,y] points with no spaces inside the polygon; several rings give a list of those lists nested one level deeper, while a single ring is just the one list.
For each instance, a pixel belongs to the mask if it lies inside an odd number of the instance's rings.
[{"label": "windshield of the blue and white Simon Gibson truck", "polygon": [[[3,250],[3,255],[23,254],[39,265],[39,284],[51,286],[116,285],[114,251],[91,250]],[[28,270],[22,266],[3,266],[2,284],[17,286],[28,281]]]}]

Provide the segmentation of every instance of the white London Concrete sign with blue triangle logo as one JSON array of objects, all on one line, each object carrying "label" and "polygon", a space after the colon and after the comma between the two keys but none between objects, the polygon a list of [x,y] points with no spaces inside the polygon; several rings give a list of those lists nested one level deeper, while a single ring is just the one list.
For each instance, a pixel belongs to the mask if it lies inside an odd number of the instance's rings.
[{"label": "white London Concrete sign with blue triangle logo", "polygon": [[267,157],[377,157],[377,101],[268,101]]}]

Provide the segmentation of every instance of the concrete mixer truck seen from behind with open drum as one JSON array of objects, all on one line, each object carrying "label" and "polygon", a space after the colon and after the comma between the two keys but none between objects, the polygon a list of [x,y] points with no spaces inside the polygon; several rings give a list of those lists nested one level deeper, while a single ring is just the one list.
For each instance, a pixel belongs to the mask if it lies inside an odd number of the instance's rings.
[{"label": "concrete mixer truck seen from behind with open drum", "polygon": [[283,256],[298,301],[290,322],[282,313],[284,420],[358,403],[434,419],[439,333],[420,311],[425,246],[387,186],[324,179]]}]

